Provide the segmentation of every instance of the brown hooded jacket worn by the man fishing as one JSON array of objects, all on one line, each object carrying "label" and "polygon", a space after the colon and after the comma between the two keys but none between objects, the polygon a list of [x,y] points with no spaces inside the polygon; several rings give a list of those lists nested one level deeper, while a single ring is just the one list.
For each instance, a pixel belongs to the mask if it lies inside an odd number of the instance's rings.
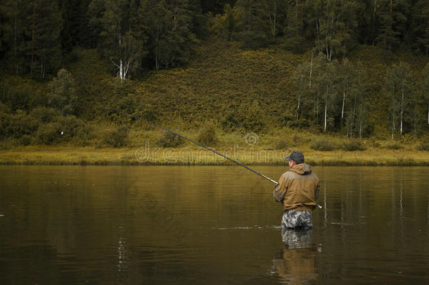
[{"label": "brown hooded jacket worn by the man fishing", "polygon": [[283,173],[274,189],[274,200],[282,202],[284,210],[314,210],[317,198],[319,179],[306,163]]}]

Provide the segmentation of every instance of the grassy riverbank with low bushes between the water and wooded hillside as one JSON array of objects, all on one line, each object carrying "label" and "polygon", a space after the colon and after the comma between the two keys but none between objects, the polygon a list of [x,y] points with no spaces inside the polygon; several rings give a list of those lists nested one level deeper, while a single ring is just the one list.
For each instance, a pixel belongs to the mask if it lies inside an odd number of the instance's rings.
[{"label": "grassy riverbank with low bushes between the water and wooded hillside", "polygon": [[[428,165],[426,139],[404,136],[392,141],[348,139],[297,129],[267,129],[261,133],[222,132],[176,128],[177,132],[210,146],[246,165],[283,165],[292,150],[305,154],[311,165]],[[107,132],[107,130],[105,130]],[[115,136],[122,147],[94,139],[87,146],[0,144],[0,164],[25,165],[231,165],[231,161],[189,141],[153,127],[134,129],[127,137]],[[119,143],[118,143],[119,145]]]}]

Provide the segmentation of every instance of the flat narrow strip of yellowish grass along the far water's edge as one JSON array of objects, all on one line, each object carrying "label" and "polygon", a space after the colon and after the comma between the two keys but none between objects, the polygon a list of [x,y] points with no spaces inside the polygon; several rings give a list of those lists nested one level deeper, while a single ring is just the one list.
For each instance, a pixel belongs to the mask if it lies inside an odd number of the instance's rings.
[{"label": "flat narrow strip of yellowish grass along the far water's edge", "polygon": [[[429,166],[429,151],[370,149],[366,151],[313,151],[302,149],[306,163],[324,166]],[[286,165],[288,151],[262,153],[227,151],[225,154],[245,165]],[[0,165],[231,165],[231,161],[198,148],[37,147],[0,151]]]}]

